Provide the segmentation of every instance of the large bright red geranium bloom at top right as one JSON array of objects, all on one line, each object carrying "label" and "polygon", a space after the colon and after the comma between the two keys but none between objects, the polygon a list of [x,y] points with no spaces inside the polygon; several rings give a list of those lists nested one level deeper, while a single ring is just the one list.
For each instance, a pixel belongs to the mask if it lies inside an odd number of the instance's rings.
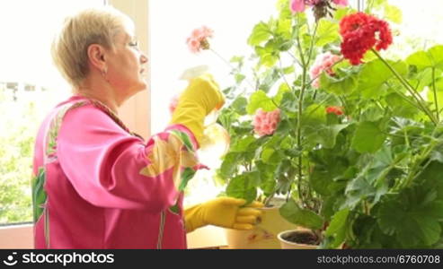
[{"label": "large bright red geranium bloom at top right", "polygon": [[393,42],[389,24],[367,13],[354,13],[341,19],[340,34],[341,54],[352,65],[361,64],[369,49],[386,49]]}]

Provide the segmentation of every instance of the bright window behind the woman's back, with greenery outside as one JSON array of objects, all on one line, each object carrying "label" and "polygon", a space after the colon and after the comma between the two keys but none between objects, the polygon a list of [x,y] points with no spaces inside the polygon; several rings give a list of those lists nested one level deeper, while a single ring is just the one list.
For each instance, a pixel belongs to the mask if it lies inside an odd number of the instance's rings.
[{"label": "bright window behind the woman's back, with greenery outside", "polygon": [[31,221],[34,137],[70,87],[52,65],[50,42],[68,13],[103,0],[0,2],[0,224]]}]

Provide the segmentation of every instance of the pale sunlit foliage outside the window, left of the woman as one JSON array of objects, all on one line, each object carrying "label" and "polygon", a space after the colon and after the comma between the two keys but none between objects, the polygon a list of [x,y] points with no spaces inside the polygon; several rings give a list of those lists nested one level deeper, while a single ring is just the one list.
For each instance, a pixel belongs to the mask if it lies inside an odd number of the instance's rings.
[{"label": "pale sunlit foliage outside the window, left of the woman", "polygon": [[0,223],[32,220],[31,163],[36,134],[34,100],[13,101],[0,85]]}]

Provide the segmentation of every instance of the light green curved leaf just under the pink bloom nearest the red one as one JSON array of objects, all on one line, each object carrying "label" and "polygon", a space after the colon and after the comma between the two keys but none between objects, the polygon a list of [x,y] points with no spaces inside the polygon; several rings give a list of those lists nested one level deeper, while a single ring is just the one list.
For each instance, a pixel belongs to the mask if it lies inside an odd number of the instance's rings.
[{"label": "light green curved leaf just under the pink bloom nearest the red one", "polygon": [[324,91],[329,91],[338,95],[347,95],[355,91],[358,80],[354,75],[343,78],[332,77],[325,72],[320,75],[320,86]]}]

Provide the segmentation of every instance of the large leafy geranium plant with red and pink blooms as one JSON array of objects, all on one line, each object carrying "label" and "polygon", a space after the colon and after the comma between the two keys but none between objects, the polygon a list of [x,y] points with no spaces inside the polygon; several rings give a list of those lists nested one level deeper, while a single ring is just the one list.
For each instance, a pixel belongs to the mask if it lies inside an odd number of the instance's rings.
[{"label": "large leafy geranium plant with red and pink blooms", "polygon": [[279,16],[254,27],[253,56],[231,60],[218,176],[227,195],[284,195],[280,213],[323,230],[323,247],[437,247],[443,46],[387,59],[392,30],[371,12],[399,18],[368,3],[279,0]]}]

